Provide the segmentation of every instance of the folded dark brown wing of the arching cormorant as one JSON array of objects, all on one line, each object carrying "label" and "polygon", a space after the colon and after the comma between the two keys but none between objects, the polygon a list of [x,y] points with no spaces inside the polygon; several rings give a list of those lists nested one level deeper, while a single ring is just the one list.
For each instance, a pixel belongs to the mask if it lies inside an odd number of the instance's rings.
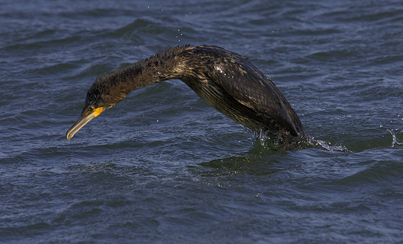
[{"label": "folded dark brown wing of the arching cormorant", "polygon": [[216,46],[199,46],[191,52],[204,58],[203,66],[209,66],[203,70],[204,75],[239,103],[275,119],[294,136],[306,136],[291,104],[270,78],[246,58]]}]

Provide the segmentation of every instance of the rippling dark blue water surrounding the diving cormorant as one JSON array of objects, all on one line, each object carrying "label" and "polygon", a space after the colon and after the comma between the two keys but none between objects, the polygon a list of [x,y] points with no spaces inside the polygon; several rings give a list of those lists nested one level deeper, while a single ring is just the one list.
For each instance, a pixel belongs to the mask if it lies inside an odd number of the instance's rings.
[{"label": "rippling dark blue water surrounding the diving cormorant", "polygon": [[[0,242],[403,243],[403,2],[0,6]],[[350,151],[268,149],[179,80],[65,139],[97,76],[184,44],[248,57]]]}]

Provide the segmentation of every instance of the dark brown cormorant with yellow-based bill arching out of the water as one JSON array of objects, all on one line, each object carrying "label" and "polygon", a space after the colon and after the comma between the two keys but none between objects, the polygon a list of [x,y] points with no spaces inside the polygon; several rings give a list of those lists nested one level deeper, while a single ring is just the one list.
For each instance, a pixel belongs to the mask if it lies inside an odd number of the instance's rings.
[{"label": "dark brown cormorant with yellow-based bill arching out of the water", "polygon": [[309,138],[285,96],[247,58],[218,46],[184,45],[97,77],[66,139],[131,91],[170,79],[182,80],[210,106],[254,132],[278,135],[285,143]]}]

